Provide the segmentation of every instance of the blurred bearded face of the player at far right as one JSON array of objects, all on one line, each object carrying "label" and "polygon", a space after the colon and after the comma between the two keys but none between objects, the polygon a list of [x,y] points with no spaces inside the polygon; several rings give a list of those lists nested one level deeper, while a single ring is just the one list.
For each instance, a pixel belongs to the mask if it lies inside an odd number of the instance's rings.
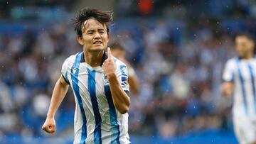
[{"label": "blurred bearded face of the player at far right", "polygon": [[238,36],[235,38],[235,49],[238,52],[238,57],[244,58],[253,52],[254,43],[246,36]]}]

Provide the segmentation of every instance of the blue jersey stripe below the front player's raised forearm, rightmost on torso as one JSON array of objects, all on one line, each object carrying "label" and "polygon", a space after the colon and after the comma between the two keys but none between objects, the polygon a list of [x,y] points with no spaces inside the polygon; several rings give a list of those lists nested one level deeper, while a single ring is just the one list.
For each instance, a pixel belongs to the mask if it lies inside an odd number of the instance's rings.
[{"label": "blue jersey stripe below the front player's raised forearm, rightmost on torso", "polygon": [[110,92],[110,86],[105,85],[105,95],[107,97],[107,103],[109,104],[110,107],[110,123],[111,123],[111,143],[112,144],[119,144],[119,125],[117,123],[117,113],[114,108],[111,92]]}]

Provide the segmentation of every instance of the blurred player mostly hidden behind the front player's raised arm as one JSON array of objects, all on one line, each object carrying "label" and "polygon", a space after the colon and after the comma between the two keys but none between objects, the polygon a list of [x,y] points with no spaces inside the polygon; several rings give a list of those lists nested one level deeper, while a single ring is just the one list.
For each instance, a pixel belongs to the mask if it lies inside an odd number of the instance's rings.
[{"label": "blurred player mostly hidden behind the front player's raised arm", "polygon": [[118,60],[121,60],[122,62],[124,62],[125,65],[127,65],[129,90],[132,94],[136,95],[139,92],[139,82],[137,75],[132,68],[132,65],[125,58],[126,52],[124,47],[120,45],[117,41],[114,41],[110,44],[110,48],[112,55],[114,55],[114,57],[117,57]]}]

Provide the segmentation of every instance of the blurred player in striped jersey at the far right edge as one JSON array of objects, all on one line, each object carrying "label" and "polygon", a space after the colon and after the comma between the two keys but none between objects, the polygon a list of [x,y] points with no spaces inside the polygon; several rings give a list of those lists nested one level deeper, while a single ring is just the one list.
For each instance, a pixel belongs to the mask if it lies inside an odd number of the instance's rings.
[{"label": "blurred player in striped jersey at the far right edge", "polygon": [[240,143],[256,143],[256,57],[255,42],[247,33],[235,37],[234,57],[225,65],[223,95],[233,94],[233,123]]}]

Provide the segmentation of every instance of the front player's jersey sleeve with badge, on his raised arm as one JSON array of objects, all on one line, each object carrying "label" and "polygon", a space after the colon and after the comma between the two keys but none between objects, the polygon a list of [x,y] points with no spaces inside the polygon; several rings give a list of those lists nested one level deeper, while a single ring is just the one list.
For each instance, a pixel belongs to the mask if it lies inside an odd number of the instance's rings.
[{"label": "front player's jersey sleeve with badge, on his raised arm", "polygon": [[128,70],[126,65],[119,65],[117,68],[117,79],[119,80],[124,92],[129,93]]}]

